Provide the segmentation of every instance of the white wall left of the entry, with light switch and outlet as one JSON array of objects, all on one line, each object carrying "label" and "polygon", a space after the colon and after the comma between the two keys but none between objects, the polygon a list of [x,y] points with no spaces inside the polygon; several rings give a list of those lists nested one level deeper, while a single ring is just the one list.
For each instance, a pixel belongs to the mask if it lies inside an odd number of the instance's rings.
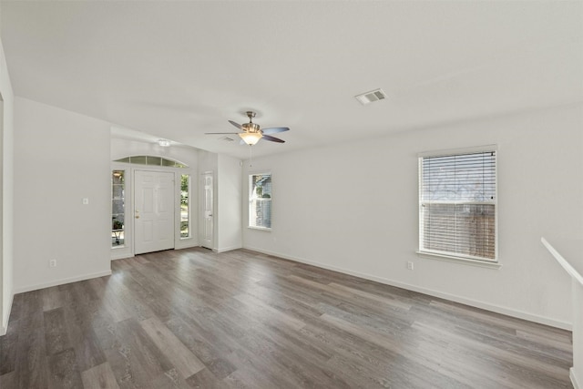
[{"label": "white wall left of the entry, with light switch and outlet", "polygon": [[15,291],[109,274],[109,123],[16,97],[15,128]]}]

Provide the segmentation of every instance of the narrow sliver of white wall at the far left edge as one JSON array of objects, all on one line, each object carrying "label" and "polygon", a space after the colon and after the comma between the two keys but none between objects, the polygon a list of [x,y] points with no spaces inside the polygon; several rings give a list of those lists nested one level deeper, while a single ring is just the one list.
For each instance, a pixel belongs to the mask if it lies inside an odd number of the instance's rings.
[{"label": "narrow sliver of white wall at the far left edge", "polygon": [[10,308],[14,297],[14,93],[6,67],[5,54],[0,44],[0,95],[3,115],[0,124],[2,138],[0,163],[2,169],[1,210],[2,234],[0,237],[0,335],[8,326]]}]

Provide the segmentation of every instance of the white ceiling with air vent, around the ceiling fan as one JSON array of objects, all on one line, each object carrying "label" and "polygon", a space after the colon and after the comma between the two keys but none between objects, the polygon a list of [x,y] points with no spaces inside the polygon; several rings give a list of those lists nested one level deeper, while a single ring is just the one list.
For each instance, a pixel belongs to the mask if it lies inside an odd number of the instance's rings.
[{"label": "white ceiling with air vent, around the ceiling fan", "polygon": [[[583,101],[581,1],[2,1],[15,95],[241,159]],[[353,97],[382,87],[388,98]],[[82,129],[79,129],[82,130]],[[139,138],[139,137],[138,137]]]}]

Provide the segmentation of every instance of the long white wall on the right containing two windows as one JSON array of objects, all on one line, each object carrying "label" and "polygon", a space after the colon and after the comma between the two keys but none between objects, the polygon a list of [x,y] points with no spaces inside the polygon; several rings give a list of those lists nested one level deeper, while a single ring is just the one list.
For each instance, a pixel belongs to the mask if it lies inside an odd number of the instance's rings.
[{"label": "long white wall on the right containing two windows", "polygon": [[[254,159],[254,171],[271,170],[272,230],[244,229],[243,245],[568,328],[568,275],[539,241],[583,234],[582,114],[560,107]],[[502,268],[418,257],[417,153],[489,144]]]}]

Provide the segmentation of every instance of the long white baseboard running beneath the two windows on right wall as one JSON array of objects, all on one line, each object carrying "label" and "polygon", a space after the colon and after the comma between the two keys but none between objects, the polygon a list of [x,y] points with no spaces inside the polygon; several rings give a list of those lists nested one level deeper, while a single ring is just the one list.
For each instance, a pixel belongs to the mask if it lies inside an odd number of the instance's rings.
[{"label": "long white baseboard running beneath the two windows on right wall", "polygon": [[258,252],[261,252],[263,254],[273,255],[275,257],[280,257],[280,258],[283,258],[285,260],[302,262],[302,263],[305,263],[308,265],[316,266],[316,267],[319,267],[322,269],[327,269],[330,271],[338,271],[338,272],[341,272],[343,274],[353,275],[355,277],[363,278],[365,280],[384,283],[386,285],[391,285],[391,286],[394,286],[397,288],[406,289],[407,291],[428,294],[430,296],[438,297],[440,299],[449,300],[451,302],[459,302],[459,303],[462,303],[465,305],[470,305],[470,306],[480,308],[480,309],[483,309],[486,311],[501,313],[501,314],[505,314],[506,316],[516,317],[517,319],[527,320],[528,322],[537,322],[540,324],[549,325],[551,327],[560,328],[562,330],[572,331],[572,324],[570,322],[562,322],[562,321],[550,319],[550,318],[547,318],[544,316],[539,316],[539,315],[528,313],[528,312],[517,311],[517,310],[514,310],[512,308],[507,308],[507,307],[503,307],[500,305],[491,304],[488,302],[480,302],[477,300],[468,299],[466,297],[458,296],[456,294],[439,292],[439,291],[435,291],[432,289],[427,289],[427,288],[423,288],[420,286],[411,285],[409,283],[398,282],[398,281],[389,280],[389,279],[386,279],[383,277],[377,277],[374,275],[362,273],[359,271],[351,271],[351,270],[339,268],[336,266],[331,266],[331,265],[320,263],[317,261],[308,261],[308,260],[304,260],[302,258],[297,258],[297,257],[292,257],[289,255],[281,254],[279,252],[265,251],[262,249],[258,249],[258,248],[254,248],[254,247],[247,247],[247,246],[244,247],[244,249],[251,250],[251,251],[258,251]]}]

